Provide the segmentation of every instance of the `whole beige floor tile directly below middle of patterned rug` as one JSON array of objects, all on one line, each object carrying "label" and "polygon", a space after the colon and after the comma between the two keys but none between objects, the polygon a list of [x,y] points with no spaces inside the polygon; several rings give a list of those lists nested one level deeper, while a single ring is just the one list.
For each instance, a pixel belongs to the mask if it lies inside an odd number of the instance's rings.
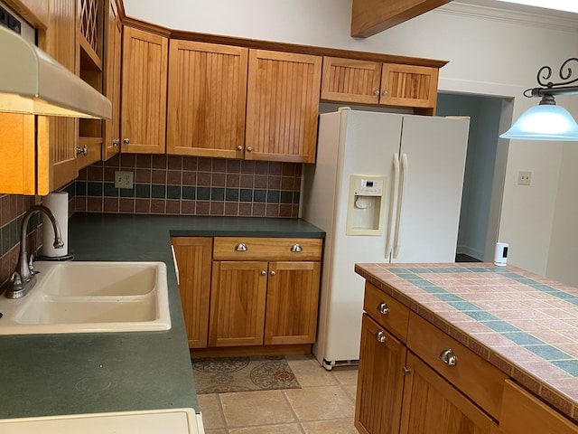
[{"label": "whole beige floor tile directly below middle of patterned rug", "polygon": [[229,429],[296,421],[281,391],[221,393],[219,398]]}]

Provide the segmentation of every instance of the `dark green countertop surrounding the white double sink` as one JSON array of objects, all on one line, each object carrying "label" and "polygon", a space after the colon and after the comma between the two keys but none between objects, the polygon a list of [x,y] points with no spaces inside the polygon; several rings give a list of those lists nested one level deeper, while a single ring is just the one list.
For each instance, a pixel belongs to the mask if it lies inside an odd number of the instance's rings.
[{"label": "dark green countertop surrounding the white double sink", "polygon": [[167,265],[171,330],[0,336],[0,418],[191,407],[198,410],[171,236],[323,238],[298,219],[75,213],[74,260]]}]

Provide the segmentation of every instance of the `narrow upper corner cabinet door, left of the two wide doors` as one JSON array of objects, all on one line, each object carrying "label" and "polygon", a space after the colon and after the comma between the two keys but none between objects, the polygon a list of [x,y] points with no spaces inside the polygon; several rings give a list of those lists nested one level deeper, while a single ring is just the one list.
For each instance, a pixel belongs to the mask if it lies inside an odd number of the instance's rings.
[{"label": "narrow upper corner cabinet door, left of the two wide doors", "polygon": [[121,151],[163,154],[168,39],[123,29]]}]

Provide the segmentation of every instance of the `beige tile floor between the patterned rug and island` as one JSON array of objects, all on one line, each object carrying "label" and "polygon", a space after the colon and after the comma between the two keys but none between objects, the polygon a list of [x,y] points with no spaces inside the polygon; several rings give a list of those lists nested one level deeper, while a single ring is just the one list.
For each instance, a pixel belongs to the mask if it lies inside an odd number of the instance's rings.
[{"label": "beige tile floor between the patterned rug and island", "polygon": [[358,434],[357,368],[329,372],[312,356],[286,359],[302,389],[199,395],[207,434]]}]

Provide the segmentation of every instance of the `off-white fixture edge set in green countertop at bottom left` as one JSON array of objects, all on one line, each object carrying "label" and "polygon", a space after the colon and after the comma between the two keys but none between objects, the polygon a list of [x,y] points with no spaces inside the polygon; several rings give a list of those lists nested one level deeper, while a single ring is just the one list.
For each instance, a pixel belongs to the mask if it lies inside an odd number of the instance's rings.
[{"label": "off-white fixture edge set in green countertop at bottom left", "polygon": [[118,411],[40,418],[0,419],[2,434],[201,434],[200,414],[192,409]]}]

